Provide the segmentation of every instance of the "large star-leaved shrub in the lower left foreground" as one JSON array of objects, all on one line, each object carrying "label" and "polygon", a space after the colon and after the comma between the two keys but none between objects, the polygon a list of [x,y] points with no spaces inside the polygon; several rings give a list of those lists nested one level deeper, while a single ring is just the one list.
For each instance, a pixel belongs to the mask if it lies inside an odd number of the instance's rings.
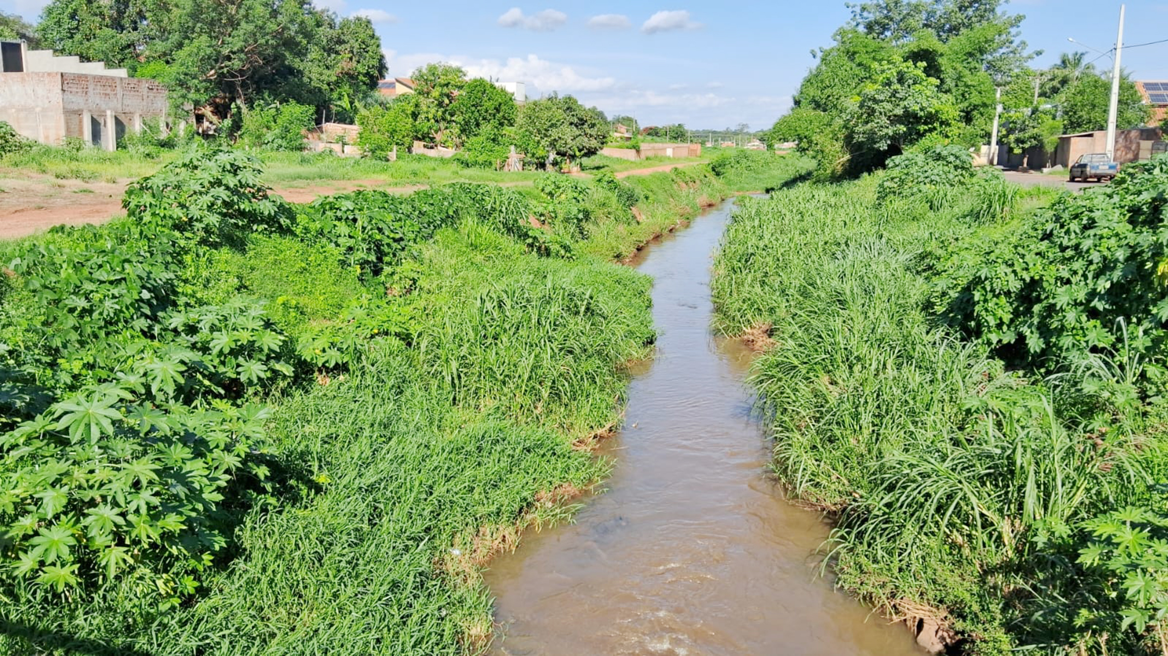
[{"label": "large star-leaved shrub in the lower left foreground", "polygon": [[174,605],[228,542],[222,505],[269,419],[257,406],[166,410],[107,384],[0,437],[0,580],[47,600],[118,585]]}]

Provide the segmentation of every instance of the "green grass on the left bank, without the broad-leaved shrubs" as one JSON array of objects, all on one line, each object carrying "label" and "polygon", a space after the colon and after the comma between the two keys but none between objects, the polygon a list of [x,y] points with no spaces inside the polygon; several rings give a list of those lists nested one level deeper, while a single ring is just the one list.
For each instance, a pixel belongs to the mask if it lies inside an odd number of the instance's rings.
[{"label": "green grass on the left bank, without the broad-leaved shrubs", "polygon": [[[619,421],[625,364],[651,353],[649,281],[611,260],[724,194],[705,172],[635,184],[640,222],[588,186],[584,238],[563,253],[512,229],[524,202],[548,202],[534,190],[453,212],[375,277],[292,229],[186,252],[168,272],[176,302],[263,306],[291,337],[353,333],[349,350],[327,367],[300,360],[294,382],[250,392],[272,409],[251,454],[271,489],[224,509],[237,514],[234,535],[193,593],[159,606],[117,587],[0,588],[0,652],[479,651],[493,633],[480,568],[524,526],[570,516],[570,500],[605,476],[589,447]],[[34,302],[2,278],[0,309]],[[355,319],[362,303],[389,319]]]}]

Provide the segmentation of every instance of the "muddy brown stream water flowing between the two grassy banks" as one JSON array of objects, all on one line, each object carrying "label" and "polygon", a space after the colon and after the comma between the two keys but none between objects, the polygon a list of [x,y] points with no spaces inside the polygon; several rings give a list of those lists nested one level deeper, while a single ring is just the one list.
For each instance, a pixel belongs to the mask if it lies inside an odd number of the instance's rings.
[{"label": "muddy brown stream water flowing between the two grassy banks", "polygon": [[575,524],[529,532],[492,563],[495,654],[924,654],[903,624],[816,577],[828,526],[767,474],[750,354],[710,332],[730,210],[641,258],[660,337],[606,442],[613,476]]}]

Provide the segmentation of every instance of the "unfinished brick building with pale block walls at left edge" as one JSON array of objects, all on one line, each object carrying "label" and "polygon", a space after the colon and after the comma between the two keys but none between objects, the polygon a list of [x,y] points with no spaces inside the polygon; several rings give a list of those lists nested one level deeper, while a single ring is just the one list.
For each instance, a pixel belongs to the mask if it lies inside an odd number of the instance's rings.
[{"label": "unfinished brick building with pale block walls at left edge", "polygon": [[0,120],[29,139],[61,144],[75,137],[113,151],[127,128],[165,121],[166,110],[166,88],[153,79],[0,41]]}]

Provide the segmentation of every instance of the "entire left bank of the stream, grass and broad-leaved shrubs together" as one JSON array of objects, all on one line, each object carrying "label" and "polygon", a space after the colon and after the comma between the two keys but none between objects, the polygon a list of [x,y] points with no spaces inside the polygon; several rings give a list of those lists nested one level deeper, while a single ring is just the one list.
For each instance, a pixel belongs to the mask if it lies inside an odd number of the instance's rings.
[{"label": "entire left bank of the stream, grass and broad-leaved shrubs together", "polygon": [[0,249],[0,651],[479,650],[479,567],[604,477],[651,353],[613,260],[729,194],[262,181],[196,153]]}]

